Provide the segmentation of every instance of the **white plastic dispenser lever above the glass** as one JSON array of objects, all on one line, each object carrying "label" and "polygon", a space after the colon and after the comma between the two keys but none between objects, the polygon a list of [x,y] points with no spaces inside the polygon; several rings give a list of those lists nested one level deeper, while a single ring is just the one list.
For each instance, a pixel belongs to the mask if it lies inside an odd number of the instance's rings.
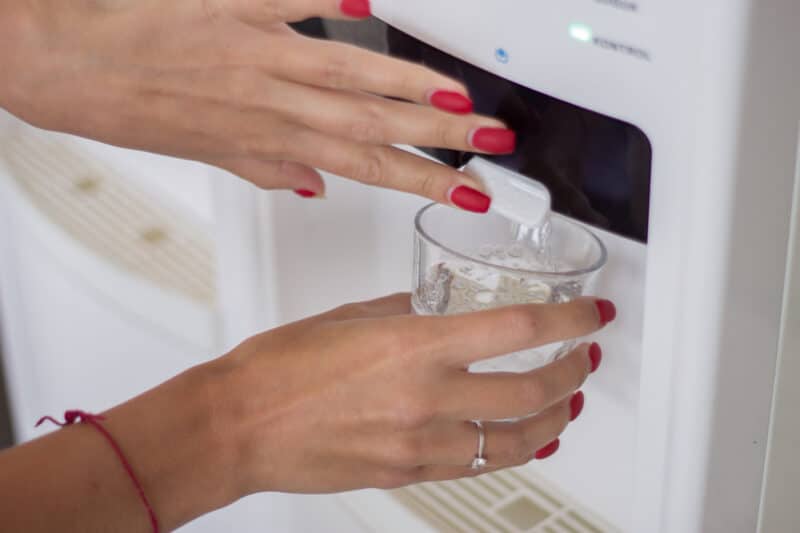
[{"label": "white plastic dispenser lever above the glass", "polygon": [[461,170],[483,183],[492,211],[514,222],[535,228],[550,212],[550,191],[534,179],[481,157],[473,157]]}]

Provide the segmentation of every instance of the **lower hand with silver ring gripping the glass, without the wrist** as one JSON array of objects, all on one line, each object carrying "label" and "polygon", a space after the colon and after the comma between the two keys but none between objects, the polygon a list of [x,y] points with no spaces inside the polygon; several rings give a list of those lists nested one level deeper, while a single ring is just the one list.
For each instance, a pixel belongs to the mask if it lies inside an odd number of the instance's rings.
[{"label": "lower hand with silver ring gripping the glass, without the wrist", "polygon": [[587,335],[609,304],[507,307],[411,316],[409,296],[348,305],[256,336],[217,363],[228,377],[216,418],[230,421],[243,494],[392,488],[474,475],[472,420],[487,469],[543,458],[583,406],[599,364],[582,345],[527,374],[470,374],[476,360]]}]

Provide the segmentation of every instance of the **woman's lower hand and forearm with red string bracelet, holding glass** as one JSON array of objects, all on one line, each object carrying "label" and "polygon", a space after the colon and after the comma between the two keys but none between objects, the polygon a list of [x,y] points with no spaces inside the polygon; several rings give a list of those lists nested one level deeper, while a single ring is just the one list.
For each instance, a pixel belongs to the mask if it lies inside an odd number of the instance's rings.
[{"label": "woman's lower hand and forearm with red string bracelet, holding glass", "polygon": [[[607,304],[605,304],[607,305]],[[410,314],[398,294],[248,339],[104,413],[163,531],[257,492],[395,488],[527,463],[578,413],[597,359],[581,345],[524,374],[476,360],[591,334],[592,298],[455,316]],[[582,398],[581,398],[582,399]],[[486,469],[469,464],[486,422]],[[87,424],[0,453],[9,531],[147,531],[144,507]]]}]

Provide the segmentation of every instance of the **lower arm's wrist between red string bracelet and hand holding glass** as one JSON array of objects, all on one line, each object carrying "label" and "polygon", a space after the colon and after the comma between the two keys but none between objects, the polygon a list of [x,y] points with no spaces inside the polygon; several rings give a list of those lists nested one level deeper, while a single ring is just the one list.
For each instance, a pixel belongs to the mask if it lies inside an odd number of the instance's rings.
[{"label": "lower arm's wrist between red string bracelet and hand holding glass", "polygon": [[226,376],[216,362],[200,365],[106,415],[165,530],[243,496],[236,438],[221,413]]}]

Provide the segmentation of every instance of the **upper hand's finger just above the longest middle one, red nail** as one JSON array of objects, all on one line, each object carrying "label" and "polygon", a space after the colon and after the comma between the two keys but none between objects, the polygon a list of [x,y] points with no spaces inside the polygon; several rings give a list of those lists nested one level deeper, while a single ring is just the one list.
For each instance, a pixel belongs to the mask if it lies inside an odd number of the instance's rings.
[{"label": "upper hand's finger just above the longest middle one, red nail", "polygon": [[[453,111],[472,111],[463,84],[438,72],[357,46],[319,39],[290,37],[287,46],[248,50],[249,57],[263,57],[277,77],[304,85],[336,90],[362,91],[402,98],[420,104],[431,103],[436,91],[463,98]],[[434,101],[436,99],[434,98]]]}]

